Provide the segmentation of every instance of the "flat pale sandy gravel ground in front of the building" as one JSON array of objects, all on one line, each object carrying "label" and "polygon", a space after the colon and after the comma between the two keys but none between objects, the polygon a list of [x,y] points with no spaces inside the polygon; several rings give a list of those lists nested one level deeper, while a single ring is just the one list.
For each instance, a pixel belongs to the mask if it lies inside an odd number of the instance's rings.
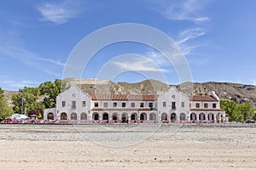
[{"label": "flat pale sandy gravel ground in front of the building", "polygon": [[256,169],[256,125],[0,124],[1,169]]}]

